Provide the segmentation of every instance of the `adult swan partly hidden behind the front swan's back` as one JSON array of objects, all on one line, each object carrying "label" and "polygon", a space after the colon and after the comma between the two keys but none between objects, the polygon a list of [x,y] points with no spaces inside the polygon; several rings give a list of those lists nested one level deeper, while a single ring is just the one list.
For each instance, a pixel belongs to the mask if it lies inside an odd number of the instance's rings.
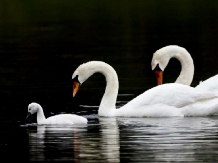
[{"label": "adult swan partly hidden behind the front swan's back", "polygon": [[[190,86],[194,76],[194,63],[190,53],[183,47],[177,45],[165,46],[153,54],[151,69],[155,71],[157,84],[162,84],[163,71],[169,60],[176,58],[181,63],[181,72],[175,83]],[[218,75],[200,82],[195,88],[201,91],[209,91],[218,95]]]}]

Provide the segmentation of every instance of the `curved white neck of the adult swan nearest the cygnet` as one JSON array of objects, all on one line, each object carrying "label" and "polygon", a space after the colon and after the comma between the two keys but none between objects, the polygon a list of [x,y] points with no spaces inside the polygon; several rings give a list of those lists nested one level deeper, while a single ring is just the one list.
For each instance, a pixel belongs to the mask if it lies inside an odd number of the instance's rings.
[{"label": "curved white neck of the adult swan nearest the cygnet", "polygon": [[95,62],[89,70],[93,74],[96,72],[103,74],[106,79],[106,89],[101,99],[98,115],[112,116],[116,111],[115,103],[119,89],[117,73],[110,65],[104,62]]}]

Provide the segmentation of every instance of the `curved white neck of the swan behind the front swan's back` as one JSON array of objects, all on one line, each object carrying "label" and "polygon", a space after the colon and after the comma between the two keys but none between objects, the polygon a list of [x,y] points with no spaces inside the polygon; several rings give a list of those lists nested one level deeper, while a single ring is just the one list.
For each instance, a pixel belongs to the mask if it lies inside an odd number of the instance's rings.
[{"label": "curved white neck of the swan behind the front swan's back", "polygon": [[181,72],[175,83],[191,85],[194,76],[194,64],[191,55],[184,49],[180,53],[175,53],[172,57],[181,63]]}]

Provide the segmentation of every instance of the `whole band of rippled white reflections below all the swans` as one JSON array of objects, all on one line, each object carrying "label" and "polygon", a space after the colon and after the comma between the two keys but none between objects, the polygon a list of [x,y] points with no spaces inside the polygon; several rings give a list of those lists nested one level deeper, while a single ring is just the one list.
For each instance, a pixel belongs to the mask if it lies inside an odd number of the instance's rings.
[{"label": "whole band of rippled white reflections below all the swans", "polygon": [[99,118],[29,130],[31,161],[217,161],[218,117]]}]

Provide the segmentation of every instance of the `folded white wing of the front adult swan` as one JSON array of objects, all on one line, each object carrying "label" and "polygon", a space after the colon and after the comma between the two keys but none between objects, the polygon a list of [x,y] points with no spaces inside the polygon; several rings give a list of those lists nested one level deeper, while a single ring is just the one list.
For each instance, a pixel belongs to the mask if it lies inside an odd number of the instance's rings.
[{"label": "folded white wing of the front adult swan", "polygon": [[181,108],[201,100],[216,98],[216,95],[207,91],[200,91],[182,84],[163,84],[147,90],[137,96],[124,107],[140,108],[145,105],[165,104]]}]

